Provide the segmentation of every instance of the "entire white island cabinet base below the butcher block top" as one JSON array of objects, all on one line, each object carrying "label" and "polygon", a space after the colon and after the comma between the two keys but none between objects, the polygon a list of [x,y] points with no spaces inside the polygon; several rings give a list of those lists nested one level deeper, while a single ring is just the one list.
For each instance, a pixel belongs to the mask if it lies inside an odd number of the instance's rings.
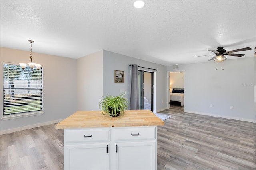
[{"label": "entire white island cabinet base below the butcher block top", "polygon": [[65,170],[156,170],[156,126],[64,129]]}]

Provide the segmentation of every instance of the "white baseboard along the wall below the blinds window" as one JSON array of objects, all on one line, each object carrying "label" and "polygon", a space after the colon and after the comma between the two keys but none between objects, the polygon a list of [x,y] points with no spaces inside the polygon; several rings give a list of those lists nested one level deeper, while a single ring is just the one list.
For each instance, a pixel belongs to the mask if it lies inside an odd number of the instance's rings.
[{"label": "white baseboard along the wall below the blinds window", "polygon": [[50,125],[50,124],[54,124],[54,123],[59,123],[62,120],[64,120],[64,119],[38,123],[38,124],[34,124],[34,125],[22,126],[22,127],[17,127],[17,128],[13,128],[13,129],[7,129],[4,131],[0,131],[0,135],[6,134],[6,133],[12,133],[12,132],[16,132],[16,131],[23,131],[23,130],[31,129],[34,127],[40,127],[40,126]]}]

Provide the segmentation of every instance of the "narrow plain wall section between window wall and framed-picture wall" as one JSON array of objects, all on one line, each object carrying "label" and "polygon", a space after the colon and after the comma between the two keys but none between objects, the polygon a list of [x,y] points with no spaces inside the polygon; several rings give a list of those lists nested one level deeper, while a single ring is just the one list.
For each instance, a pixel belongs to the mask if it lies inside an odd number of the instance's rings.
[{"label": "narrow plain wall section between window wall and framed-picture wall", "polygon": [[76,75],[77,109],[99,110],[103,96],[103,51],[77,59]]}]

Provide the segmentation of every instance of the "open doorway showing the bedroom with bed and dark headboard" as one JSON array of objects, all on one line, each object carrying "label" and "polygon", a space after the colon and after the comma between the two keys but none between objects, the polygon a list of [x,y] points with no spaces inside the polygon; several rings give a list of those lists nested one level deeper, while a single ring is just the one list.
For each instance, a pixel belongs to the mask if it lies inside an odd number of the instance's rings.
[{"label": "open doorway showing the bedroom with bed and dark headboard", "polygon": [[169,72],[169,108],[184,108],[184,71]]}]

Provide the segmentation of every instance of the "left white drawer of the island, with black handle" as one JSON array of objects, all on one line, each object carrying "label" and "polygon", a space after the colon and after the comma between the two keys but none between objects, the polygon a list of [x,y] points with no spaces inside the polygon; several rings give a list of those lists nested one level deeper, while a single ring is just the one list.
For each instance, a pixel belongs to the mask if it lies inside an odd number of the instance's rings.
[{"label": "left white drawer of the island, with black handle", "polygon": [[64,129],[64,143],[109,140],[110,129]]}]

